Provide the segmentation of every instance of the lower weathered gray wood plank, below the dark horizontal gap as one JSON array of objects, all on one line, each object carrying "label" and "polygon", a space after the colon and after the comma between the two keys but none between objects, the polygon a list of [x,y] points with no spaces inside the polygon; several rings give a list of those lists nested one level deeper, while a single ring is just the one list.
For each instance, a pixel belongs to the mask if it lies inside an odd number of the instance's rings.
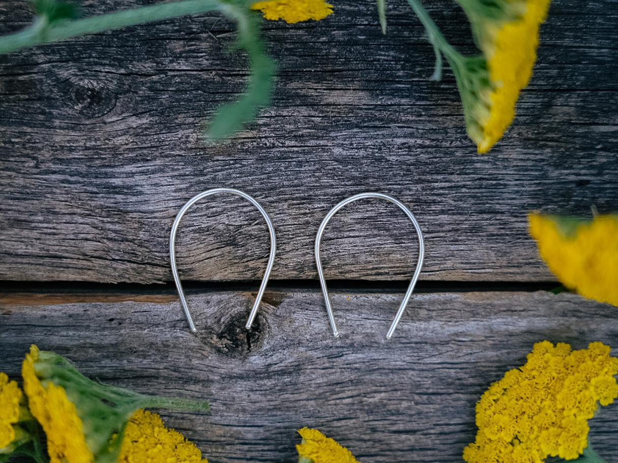
[{"label": "lower weathered gray wood plank, below the dark horizontal gap", "polygon": [[[2,304],[0,369],[17,377],[37,343],[104,382],[209,399],[211,414],[163,416],[214,463],[291,463],[303,425],[363,463],[455,463],[475,434],[475,401],[533,343],[618,343],[616,307],[574,294],[418,294],[391,341],[401,294],[333,296],[338,340],[313,291],[269,290],[248,336],[253,296],[237,291],[190,295],[197,335],[176,301]],[[599,454],[618,461],[616,404],[591,424]]]}]

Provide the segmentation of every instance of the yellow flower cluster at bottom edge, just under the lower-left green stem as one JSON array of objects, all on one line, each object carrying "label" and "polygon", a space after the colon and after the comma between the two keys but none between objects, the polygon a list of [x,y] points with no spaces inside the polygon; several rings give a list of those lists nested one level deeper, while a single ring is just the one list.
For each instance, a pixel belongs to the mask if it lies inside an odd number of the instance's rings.
[{"label": "yellow flower cluster at bottom edge, just under the lower-left green stem", "polygon": [[138,410],[122,440],[118,463],[208,463],[179,432],[166,428],[156,413]]}]

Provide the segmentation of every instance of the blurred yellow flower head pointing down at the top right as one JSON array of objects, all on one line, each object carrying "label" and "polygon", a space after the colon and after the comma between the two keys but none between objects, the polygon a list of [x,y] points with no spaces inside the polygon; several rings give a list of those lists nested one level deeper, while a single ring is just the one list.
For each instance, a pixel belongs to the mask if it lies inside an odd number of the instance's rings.
[{"label": "blurred yellow flower head pointing down at the top right", "polygon": [[475,141],[478,152],[483,153],[500,140],[515,117],[515,103],[530,81],[539,28],[551,0],[459,0],[459,3],[472,23],[491,81],[472,109],[476,123],[467,124],[468,135]]}]

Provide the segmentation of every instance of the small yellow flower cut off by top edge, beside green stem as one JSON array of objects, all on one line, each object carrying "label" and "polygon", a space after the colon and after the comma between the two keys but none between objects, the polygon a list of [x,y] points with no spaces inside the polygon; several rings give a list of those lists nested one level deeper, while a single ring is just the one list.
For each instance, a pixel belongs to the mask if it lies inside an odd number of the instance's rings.
[{"label": "small yellow flower cut off by top edge, beside green stem", "polygon": [[255,2],[251,9],[261,10],[268,20],[282,19],[289,24],[319,21],[332,14],[332,5],[324,0],[264,0]]}]

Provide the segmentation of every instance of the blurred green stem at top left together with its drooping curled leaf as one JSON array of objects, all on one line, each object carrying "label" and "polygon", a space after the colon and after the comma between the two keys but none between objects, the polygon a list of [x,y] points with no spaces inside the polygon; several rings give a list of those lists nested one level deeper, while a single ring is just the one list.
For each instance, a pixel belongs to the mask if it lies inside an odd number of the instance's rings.
[{"label": "blurred green stem at top left together with its drooping curled leaf", "polygon": [[222,106],[205,135],[219,140],[255,119],[261,106],[270,101],[275,65],[259,40],[257,15],[246,0],[181,0],[78,19],[72,4],[57,0],[33,0],[36,20],[30,27],[0,37],[0,54],[36,45],[108,30],[155,22],[185,15],[219,11],[237,22],[237,46],[247,52],[250,78],[245,93],[234,103]]}]

